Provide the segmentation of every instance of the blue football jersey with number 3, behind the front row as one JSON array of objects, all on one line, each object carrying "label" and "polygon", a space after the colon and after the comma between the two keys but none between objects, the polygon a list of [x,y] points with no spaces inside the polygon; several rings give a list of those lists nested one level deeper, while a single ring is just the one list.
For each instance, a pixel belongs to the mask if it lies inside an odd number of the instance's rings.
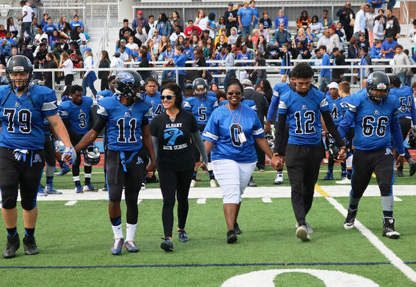
[{"label": "blue football jersey with number 3, behind the front row", "polygon": [[58,107],[62,119],[69,119],[71,130],[77,134],[86,134],[89,131],[89,111],[94,106],[92,98],[83,96],[80,105],[72,101],[64,101]]}]

